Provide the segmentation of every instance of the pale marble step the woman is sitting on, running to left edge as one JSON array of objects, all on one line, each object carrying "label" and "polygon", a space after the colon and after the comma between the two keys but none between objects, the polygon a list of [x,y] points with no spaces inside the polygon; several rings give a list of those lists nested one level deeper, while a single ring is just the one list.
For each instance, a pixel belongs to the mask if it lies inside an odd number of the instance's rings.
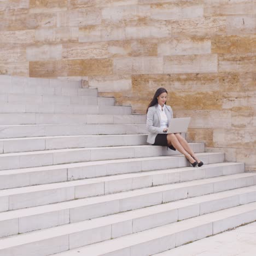
[{"label": "pale marble step the woman is sitting on, running to left edge", "polygon": [[[196,147],[196,143],[195,147]],[[199,144],[200,145],[200,144]],[[204,144],[202,144],[202,147]],[[199,146],[200,147],[200,146]],[[201,148],[202,148],[201,147]],[[118,147],[93,147],[93,148],[70,148],[39,150],[32,152],[0,154],[0,170],[16,168],[38,167],[48,165],[61,165],[74,162],[100,161],[126,158],[147,158],[161,156],[167,147],[138,145]],[[173,150],[172,150],[173,151]],[[167,154],[166,153],[166,154]]]}]

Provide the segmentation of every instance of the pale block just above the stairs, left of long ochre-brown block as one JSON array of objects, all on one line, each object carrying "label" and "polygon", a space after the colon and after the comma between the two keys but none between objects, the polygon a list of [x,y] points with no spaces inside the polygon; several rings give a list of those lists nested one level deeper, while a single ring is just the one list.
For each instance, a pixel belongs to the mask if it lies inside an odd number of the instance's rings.
[{"label": "pale block just above the stairs, left of long ochre-brown block", "polygon": [[96,87],[98,92],[119,92],[131,90],[130,75],[110,75],[89,79],[89,86]]}]

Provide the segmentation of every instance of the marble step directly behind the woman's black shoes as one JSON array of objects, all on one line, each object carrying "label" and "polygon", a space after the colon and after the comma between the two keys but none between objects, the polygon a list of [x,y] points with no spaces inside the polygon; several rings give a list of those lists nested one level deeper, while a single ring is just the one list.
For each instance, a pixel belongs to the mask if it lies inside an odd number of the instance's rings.
[{"label": "marble step directly behind the woman's black shoes", "polygon": [[[197,153],[197,156],[199,156],[205,165],[224,161],[223,153]],[[76,181],[78,179],[96,178],[125,173],[165,170],[168,168],[186,166],[189,166],[189,163],[184,156],[173,155],[2,170],[0,171],[0,189]],[[225,165],[223,164],[223,166]],[[204,168],[202,168],[201,171],[198,171],[200,175],[203,170]],[[190,177],[190,175],[188,175],[188,177]],[[168,179],[166,179],[166,181],[168,182]]]}]

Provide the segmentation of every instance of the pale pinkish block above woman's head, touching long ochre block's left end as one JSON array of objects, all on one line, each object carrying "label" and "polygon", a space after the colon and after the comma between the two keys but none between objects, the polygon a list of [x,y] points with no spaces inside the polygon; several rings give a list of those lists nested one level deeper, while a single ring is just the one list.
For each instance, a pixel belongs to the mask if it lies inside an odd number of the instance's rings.
[{"label": "pale pinkish block above woman's head, touching long ochre block's left end", "polygon": [[162,57],[124,57],[113,62],[116,74],[159,74],[162,73]]}]

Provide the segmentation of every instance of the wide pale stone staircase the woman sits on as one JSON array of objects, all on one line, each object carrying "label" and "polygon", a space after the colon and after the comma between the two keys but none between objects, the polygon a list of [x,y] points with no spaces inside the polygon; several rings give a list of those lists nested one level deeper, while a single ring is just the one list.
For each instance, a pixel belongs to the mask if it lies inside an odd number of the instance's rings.
[{"label": "wide pale stone staircase the woman sits on", "polygon": [[147,145],[146,117],[96,89],[2,75],[0,99],[0,256],[171,255],[256,220],[256,173]]}]

